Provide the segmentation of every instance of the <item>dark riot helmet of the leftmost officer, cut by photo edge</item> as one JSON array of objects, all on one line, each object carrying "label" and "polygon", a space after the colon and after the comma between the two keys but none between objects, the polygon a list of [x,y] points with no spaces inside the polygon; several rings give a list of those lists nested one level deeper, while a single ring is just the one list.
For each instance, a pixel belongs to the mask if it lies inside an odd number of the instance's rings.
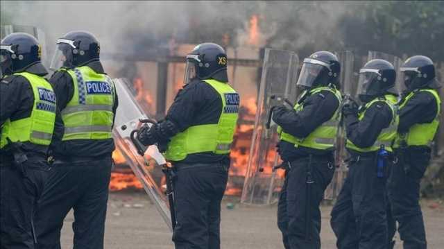
[{"label": "dark riot helmet of the leftmost officer, cut by photo edge", "polygon": [[35,37],[26,33],[12,33],[1,40],[1,75],[19,73],[35,65],[46,71],[40,62],[42,47]]}]

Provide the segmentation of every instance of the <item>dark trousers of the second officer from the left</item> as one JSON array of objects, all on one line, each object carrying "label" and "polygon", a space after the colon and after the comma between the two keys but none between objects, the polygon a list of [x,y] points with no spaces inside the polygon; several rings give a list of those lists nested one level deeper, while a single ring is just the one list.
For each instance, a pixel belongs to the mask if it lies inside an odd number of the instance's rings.
[{"label": "dark trousers of the second officer from the left", "polygon": [[87,162],[55,162],[37,205],[39,249],[60,249],[60,230],[74,209],[74,249],[103,248],[111,157]]}]

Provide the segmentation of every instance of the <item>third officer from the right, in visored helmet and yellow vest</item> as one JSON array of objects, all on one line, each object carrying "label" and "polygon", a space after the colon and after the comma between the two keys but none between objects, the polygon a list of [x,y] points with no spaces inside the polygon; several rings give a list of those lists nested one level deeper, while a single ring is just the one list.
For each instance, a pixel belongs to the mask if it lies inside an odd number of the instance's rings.
[{"label": "third officer from the right, in visored helmet and yellow vest", "polygon": [[273,110],[273,121],[280,126],[278,153],[286,170],[278,205],[278,227],[286,249],[321,248],[319,205],[334,173],[340,72],[333,53],[311,54],[298,78],[304,91],[294,109],[278,105]]}]

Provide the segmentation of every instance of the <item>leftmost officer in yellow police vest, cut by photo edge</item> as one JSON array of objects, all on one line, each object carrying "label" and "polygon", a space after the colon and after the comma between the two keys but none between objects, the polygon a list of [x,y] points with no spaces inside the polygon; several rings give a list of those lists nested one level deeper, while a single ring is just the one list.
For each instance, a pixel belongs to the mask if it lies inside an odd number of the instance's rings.
[{"label": "leftmost officer in yellow police vest, cut by photo edge", "polygon": [[0,48],[0,248],[34,248],[33,215],[49,172],[56,97],[35,37],[12,33]]}]

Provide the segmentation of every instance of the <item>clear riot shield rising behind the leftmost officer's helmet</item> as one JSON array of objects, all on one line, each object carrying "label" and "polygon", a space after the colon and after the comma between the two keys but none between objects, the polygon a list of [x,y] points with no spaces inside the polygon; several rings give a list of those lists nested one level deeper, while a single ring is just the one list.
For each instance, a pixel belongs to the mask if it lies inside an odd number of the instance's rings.
[{"label": "clear riot shield rising behind the leftmost officer's helmet", "polygon": [[49,58],[46,57],[46,41],[44,32],[35,26],[26,26],[26,25],[1,25],[0,26],[0,40],[3,40],[6,35],[10,35],[11,33],[28,33],[29,35],[33,35],[33,37],[37,38],[42,46],[42,62],[43,65],[48,65],[46,62],[49,62]]}]

